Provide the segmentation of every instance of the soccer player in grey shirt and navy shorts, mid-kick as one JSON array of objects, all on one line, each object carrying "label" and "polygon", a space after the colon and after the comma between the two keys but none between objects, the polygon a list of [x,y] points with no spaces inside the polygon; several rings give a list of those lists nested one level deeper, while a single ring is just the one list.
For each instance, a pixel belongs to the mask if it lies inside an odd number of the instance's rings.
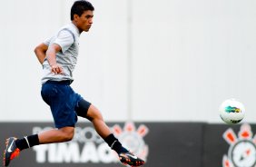
[{"label": "soccer player in grey shirt and navy shorts, mid-kick", "polygon": [[41,95],[54,117],[56,129],[17,139],[6,139],[4,166],[8,166],[19,152],[34,145],[68,142],[74,137],[77,115],[90,120],[96,132],[119,155],[121,162],[131,166],[143,165],[144,161],[126,150],[104,123],[100,111],[75,93],[70,84],[76,64],[79,35],[88,32],[93,25],[94,6],[85,0],[75,1],[71,8],[71,23],[62,27],[54,36],[39,44],[34,53],[43,65]]}]

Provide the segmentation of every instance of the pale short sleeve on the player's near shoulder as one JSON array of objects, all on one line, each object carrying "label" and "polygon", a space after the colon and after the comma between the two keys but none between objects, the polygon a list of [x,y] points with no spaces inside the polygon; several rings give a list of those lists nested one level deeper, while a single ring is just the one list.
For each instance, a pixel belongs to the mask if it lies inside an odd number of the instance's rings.
[{"label": "pale short sleeve on the player's near shoulder", "polygon": [[64,53],[72,44],[74,44],[74,35],[70,31],[62,30],[57,34],[53,43],[59,44]]}]

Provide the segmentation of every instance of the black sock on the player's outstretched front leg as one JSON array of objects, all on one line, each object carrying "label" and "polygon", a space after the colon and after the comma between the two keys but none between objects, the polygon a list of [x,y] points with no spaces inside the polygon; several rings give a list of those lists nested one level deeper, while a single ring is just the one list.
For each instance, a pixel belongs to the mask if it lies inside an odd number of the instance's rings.
[{"label": "black sock on the player's outstretched front leg", "polygon": [[121,152],[129,152],[127,149],[125,149],[121,142],[118,141],[118,139],[116,139],[113,134],[108,135],[105,139],[105,142],[107,142],[107,144],[118,154]]}]

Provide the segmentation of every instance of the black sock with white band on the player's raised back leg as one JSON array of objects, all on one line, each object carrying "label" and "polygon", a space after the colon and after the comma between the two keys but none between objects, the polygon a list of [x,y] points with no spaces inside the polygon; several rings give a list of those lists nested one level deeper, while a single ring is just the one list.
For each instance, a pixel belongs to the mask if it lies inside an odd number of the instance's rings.
[{"label": "black sock with white band on the player's raised back leg", "polygon": [[15,141],[15,144],[17,148],[20,149],[20,151],[27,149],[29,147],[33,147],[34,145],[38,145],[39,144],[38,134],[33,134],[30,136],[25,136],[22,139],[17,139]]}]

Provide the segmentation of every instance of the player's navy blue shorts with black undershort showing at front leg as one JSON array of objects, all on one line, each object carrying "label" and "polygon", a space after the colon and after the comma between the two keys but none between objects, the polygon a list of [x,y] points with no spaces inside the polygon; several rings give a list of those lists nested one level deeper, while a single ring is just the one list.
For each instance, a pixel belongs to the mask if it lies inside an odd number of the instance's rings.
[{"label": "player's navy blue shorts with black undershort showing at front leg", "polygon": [[[41,95],[51,108],[56,128],[74,127],[77,115],[80,116],[80,113],[85,117],[91,105],[80,94],[74,93],[70,83],[70,81],[47,81],[42,85]],[[82,103],[82,106],[79,106],[79,103]],[[76,111],[79,113],[77,114]]]}]

